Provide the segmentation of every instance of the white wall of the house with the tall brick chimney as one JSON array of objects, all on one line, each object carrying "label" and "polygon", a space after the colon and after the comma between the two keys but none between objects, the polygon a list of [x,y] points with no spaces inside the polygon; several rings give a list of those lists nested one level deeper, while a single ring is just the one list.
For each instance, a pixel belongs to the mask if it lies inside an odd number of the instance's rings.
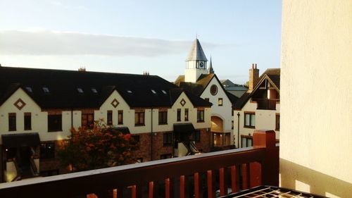
[{"label": "white wall of the house with the tall brick chimney", "polygon": [[[256,113],[256,127],[244,127],[244,112],[251,111]],[[257,109],[257,103],[251,102],[251,99],[246,102],[241,111],[234,111],[234,137],[237,145],[238,135],[238,117],[239,113],[239,147],[241,147],[241,135],[253,135],[254,130],[275,130],[276,114],[280,113],[280,104],[276,104],[276,110]],[[279,139],[279,130],[275,130],[275,137]]]}]

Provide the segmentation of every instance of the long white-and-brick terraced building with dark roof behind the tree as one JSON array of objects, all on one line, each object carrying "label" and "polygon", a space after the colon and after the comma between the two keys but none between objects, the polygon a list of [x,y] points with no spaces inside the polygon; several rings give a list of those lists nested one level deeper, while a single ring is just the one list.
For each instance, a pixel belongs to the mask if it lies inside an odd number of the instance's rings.
[{"label": "long white-and-brick terraced building with dark roof behind the tree", "polygon": [[155,75],[0,66],[0,182],[65,173],[56,149],[101,118],[138,140],[139,161],[210,151],[210,106]]}]

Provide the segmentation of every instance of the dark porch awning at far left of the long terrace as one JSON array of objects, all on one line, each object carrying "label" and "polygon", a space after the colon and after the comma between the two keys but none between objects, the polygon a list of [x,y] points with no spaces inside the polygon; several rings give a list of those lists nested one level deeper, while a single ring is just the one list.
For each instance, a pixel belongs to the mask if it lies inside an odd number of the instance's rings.
[{"label": "dark porch awning at far left of the long terrace", "polygon": [[1,135],[2,145],[6,148],[35,147],[40,144],[37,132]]}]

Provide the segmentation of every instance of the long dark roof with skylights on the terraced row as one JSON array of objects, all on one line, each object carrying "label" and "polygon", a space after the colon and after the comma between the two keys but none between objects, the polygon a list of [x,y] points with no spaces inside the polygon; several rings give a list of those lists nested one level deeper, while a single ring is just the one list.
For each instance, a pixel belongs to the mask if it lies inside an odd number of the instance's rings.
[{"label": "long dark roof with skylights on the terraced row", "polygon": [[[99,108],[115,90],[130,107],[172,106],[170,96],[179,89],[156,75],[0,67],[0,105],[18,87],[42,109]],[[211,106],[189,95],[194,106]]]}]

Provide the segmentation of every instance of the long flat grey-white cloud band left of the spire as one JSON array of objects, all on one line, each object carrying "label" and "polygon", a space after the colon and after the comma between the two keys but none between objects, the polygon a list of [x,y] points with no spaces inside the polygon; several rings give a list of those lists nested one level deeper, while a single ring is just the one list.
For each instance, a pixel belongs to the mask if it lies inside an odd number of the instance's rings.
[{"label": "long flat grey-white cloud band left of the spire", "polygon": [[[218,44],[204,42],[202,45],[207,49],[218,46]],[[143,37],[47,30],[0,31],[0,54],[3,55],[161,56],[184,54],[190,47],[190,41]]]}]

